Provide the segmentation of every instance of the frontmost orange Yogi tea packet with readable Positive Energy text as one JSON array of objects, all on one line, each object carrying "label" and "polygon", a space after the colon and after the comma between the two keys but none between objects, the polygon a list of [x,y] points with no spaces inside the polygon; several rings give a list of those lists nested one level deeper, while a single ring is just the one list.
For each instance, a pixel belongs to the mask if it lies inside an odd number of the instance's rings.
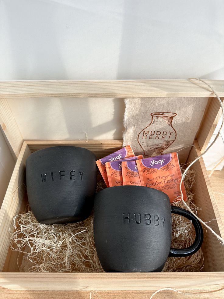
[{"label": "frontmost orange Yogi tea packet with readable Positive Energy text", "polygon": [[[151,187],[166,193],[170,202],[179,197],[181,171],[177,153],[137,160],[138,173],[142,186]],[[187,199],[184,183],[181,185],[184,201]]]}]

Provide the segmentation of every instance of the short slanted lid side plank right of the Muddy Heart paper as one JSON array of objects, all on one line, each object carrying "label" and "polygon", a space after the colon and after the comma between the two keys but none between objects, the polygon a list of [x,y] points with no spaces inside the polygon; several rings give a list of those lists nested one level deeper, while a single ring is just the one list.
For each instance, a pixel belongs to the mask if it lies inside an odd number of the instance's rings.
[{"label": "short slanted lid side plank right of the Muddy Heart paper", "polygon": [[[223,102],[224,98],[222,97],[220,99]],[[199,148],[202,152],[207,148],[221,115],[222,111],[219,101],[217,100],[217,98],[212,98],[208,109],[203,116],[200,129],[196,136]]]}]

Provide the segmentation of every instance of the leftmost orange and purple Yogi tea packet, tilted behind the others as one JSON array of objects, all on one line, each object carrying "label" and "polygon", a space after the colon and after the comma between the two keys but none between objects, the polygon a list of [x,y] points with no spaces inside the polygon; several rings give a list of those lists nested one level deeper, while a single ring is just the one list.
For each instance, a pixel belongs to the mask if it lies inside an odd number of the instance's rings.
[{"label": "leftmost orange and purple Yogi tea packet, tilted behind the others", "polygon": [[96,161],[96,165],[98,166],[100,173],[103,176],[103,180],[107,184],[107,187],[109,187],[109,182],[108,182],[107,171],[105,166],[106,162],[112,162],[112,161],[116,161],[128,157],[134,157],[134,156],[135,154],[131,146],[127,145],[124,148],[121,148],[118,151],[115,151],[114,153]]}]

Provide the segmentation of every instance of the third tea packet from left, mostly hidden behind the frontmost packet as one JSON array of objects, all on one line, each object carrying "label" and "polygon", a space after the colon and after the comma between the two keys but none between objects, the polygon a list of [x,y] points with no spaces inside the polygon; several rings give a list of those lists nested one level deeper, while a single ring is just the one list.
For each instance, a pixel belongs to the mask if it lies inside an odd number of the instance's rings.
[{"label": "third tea packet from left, mostly hidden behind the frontmost packet", "polygon": [[121,166],[124,186],[142,186],[136,161],[124,161]]}]

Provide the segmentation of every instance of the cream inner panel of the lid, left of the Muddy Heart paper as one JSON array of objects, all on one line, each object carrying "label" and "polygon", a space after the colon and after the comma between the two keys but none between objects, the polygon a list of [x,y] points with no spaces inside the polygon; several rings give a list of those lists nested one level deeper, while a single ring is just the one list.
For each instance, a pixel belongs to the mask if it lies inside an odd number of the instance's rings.
[{"label": "cream inner panel of the lid, left of the Muddy Heart paper", "polygon": [[26,140],[122,139],[122,98],[9,99],[9,106]]}]

